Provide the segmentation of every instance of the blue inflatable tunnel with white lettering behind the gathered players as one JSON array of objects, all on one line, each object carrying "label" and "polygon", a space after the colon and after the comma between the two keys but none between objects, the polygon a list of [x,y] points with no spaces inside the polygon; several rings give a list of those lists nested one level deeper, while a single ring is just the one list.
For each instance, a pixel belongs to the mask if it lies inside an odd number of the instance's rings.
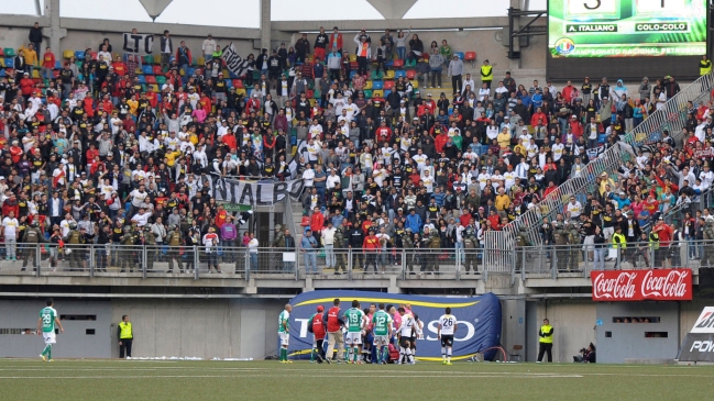
[{"label": "blue inflatable tunnel with white lettering behind the gathered players", "polygon": [[[411,314],[424,323],[422,338],[417,339],[419,360],[441,360],[441,342],[437,336],[439,318],[451,308],[451,314],[457,319],[457,330],[453,336],[453,360],[464,360],[477,353],[483,353],[486,360],[496,356],[501,344],[501,303],[493,293],[470,298],[444,298],[392,294],[369,291],[310,291],[290,300],[293,312],[289,319],[290,342],[288,354],[294,358],[308,358],[312,349],[314,335],[307,328],[310,316],[318,307],[325,312],[332,308],[334,299],[340,299],[340,318],[352,307],[352,301],[360,302],[362,310],[372,303],[384,303],[398,309],[409,305]],[[385,308],[385,310],[386,310]],[[279,345],[278,345],[279,347]]]}]

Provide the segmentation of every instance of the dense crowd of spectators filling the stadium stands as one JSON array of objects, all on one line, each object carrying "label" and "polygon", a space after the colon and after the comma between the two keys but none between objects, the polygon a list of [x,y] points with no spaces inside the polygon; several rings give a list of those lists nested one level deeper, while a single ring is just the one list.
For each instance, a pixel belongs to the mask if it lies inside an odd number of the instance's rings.
[{"label": "dense crowd of spectators filling the stadium stands", "polygon": [[[585,174],[680,91],[670,76],[629,87],[604,77],[519,83],[509,73],[494,78],[488,60],[472,77],[447,41],[427,49],[410,31],[378,36],[320,29],[314,43],[303,35],[251,54],[243,90],[210,35],[193,49],[205,60],[193,68],[191,49],[164,32],[161,86],[142,83],[139,58],[112,53],[109,40],[84,59],[22,46],[0,81],[6,238],[35,219],[47,236],[75,221],[96,233],[88,241],[105,243],[117,242],[114,222],[220,234],[232,216],[210,198],[211,181],[240,176],[303,178],[305,225],[318,246],[331,245],[320,242],[331,223],[358,248],[370,231],[388,237],[385,248],[402,247],[406,229],[415,245],[436,231],[443,247],[463,247],[464,235],[481,242]],[[414,79],[386,71],[405,68]],[[452,91],[440,90],[442,74]],[[393,89],[366,89],[377,80]],[[586,199],[573,197],[562,218],[584,216],[609,241],[609,218],[625,215],[626,236],[637,238],[634,221],[678,203],[694,215],[714,179],[710,105],[690,103],[683,145],[663,132],[616,176],[597,177]]]}]

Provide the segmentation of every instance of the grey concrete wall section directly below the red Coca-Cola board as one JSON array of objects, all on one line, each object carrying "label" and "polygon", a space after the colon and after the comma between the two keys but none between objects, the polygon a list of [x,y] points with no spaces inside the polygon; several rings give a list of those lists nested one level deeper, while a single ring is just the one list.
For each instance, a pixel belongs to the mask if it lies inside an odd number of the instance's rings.
[{"label": "grey concrete wall section directly below the red Coca-Cola board", "polygon": [[[627,358],[672,359],[677,356],[680,345],[677,302],[598,303],[596,309],[597,319],[603,322],[597,326],[598,363],[622,364]],[[620,316],[659,318],[659,323],[613,322]],[[648,337],[646,332],[666,332],[668,337]]]}]

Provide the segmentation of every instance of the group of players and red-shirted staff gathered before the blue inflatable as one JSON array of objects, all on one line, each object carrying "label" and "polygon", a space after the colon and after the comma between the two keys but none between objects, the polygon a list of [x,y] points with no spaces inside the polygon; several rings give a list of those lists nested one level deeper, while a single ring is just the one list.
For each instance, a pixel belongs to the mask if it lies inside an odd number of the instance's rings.
[{"label": "group of players and red-shirted staff gathered before the blue inflatable", "polygon": [[[292,305],[286,304],[278,320],[282,364],[292,363],[287,353],[288,320],[292,310]],[[443,365],[451,365],[453,335],[457,328],[457,318],[451,314],[451,308],[447,308],[446,314],[439,319],[437,331],[441,341]],[[331,364],[336,360],[338,364],[414,365],[417,341],[424,339],[424,322],[411,311],[409,304],[397,308],[373,303],[362,310],[358,300],[352,301],[352,308],[343,313],[339,299],[333,301],[332,308],[327,312],[322,305],[318,305],[317,312],[308,320],[307,330],[314,334],[310,363],[319,364]]]}]

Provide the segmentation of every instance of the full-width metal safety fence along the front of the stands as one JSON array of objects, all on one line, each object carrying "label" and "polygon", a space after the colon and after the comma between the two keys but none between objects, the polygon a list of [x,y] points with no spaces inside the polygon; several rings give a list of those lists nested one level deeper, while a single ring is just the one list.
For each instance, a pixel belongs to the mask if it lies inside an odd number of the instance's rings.
[{"label": "full-width metal safety fence along the front of the stands", "polygon": [[[594,245],[514,246],[510,250],[475,249],[331,249],[296,252],[287,248],[204,246],[124,246],[18,244],[4,250],[0,276],[125,277],[304,280],[487,280],[501,271],[526,278],[587,278],[592,270],[714,267],[714,241],[682,237],[670,244],[612,243]],[[14,259],[13,259],[14,255]],[[8,259],[9,258],[9,259]],[[494,270],[488,265],[503,263]],[[485,268],[488,266],[488,268]]]}]

